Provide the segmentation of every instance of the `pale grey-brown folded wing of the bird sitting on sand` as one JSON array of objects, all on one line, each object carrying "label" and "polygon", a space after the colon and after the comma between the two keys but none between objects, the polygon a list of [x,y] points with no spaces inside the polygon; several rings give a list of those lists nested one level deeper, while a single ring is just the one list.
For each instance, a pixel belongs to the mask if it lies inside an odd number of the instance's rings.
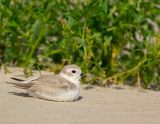
[{"label": "pale grey-brown folded wing of the bird sitting on sand", "polygon": [[42,76],[34,81],[34,85],[28,88],[30,92],[41,92],[44,94],[56,94],[76,89],[76,86],[57,75]]}]

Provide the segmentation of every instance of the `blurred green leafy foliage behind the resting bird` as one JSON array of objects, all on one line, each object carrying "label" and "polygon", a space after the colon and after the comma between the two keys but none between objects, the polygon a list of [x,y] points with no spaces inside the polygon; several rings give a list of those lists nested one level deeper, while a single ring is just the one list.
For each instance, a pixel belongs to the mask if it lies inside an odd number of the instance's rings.
[{"label": "blurred green leafy foliage behind the resting bird", "polygon": [[160,1],[1,0],[0,63],[160,90]]}]

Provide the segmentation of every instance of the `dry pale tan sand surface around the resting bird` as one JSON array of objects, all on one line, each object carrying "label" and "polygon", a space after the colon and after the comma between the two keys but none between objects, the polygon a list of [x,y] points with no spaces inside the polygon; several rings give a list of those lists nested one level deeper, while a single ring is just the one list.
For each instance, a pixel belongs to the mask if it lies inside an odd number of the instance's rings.
[{"label": "dry pale tan sand surface around the resting bird", "polygon": [[79,101],[53,102],[5,83],[20,74],[0,71],[0,124],[160,124],[160,92],[83,85]]}]

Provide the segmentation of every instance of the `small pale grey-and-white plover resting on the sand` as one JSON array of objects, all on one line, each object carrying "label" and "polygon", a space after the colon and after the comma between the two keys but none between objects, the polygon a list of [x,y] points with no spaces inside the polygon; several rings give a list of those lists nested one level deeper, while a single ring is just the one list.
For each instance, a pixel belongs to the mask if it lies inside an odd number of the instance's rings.
[{"label": "small pale grey-and-white plover resting on the sand", "polygon": [[[80,96],[81,75],[81,69],[77,65],[66,65],[56,75],[39,76],[10,83],[25,89],[31,97],[53,101],[74,101]],[[16,78],[12,79],[16,80]]]}]

